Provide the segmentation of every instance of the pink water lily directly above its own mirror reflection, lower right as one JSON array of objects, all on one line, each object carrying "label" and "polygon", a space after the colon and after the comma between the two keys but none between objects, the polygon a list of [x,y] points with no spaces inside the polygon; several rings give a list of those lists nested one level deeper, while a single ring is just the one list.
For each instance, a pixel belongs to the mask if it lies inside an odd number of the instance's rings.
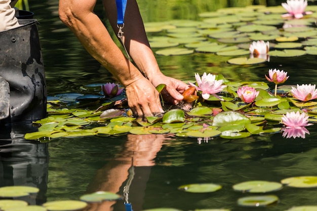
[{"label": "pink water lily directly above its own mirror reflection, lower right", "polygon": [[297,111],[287,112],[286,115],[282,117],[282,123],[286,125],[286,128],[300,128],[302,126],[311,125],[308,123],[308,115],[303,112]]}]

